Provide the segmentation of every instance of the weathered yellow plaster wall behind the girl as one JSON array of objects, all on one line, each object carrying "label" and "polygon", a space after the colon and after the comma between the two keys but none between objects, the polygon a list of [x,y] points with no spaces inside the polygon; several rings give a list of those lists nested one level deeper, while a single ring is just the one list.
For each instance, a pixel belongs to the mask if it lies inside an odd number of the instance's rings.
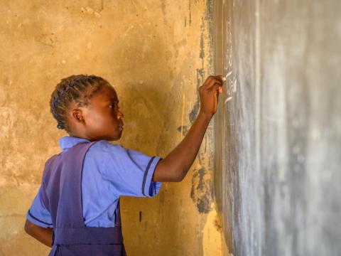
[{"label": "weathered yellow plaster wall behind the girl", "polygon": [[[45,160],[60,151],[50,93],[68,75],[100,75],[124,111],[120,144],[166,156],[212,73],[210,1],[1,1],[0,255],[46,255],[23,232]],[[183,134],[181,134],[181,130]],[[129,255],[221,255],[212,203],[212,126],[181,183],[122,198]],[[141,222],[139,212],[141,211]]]}]

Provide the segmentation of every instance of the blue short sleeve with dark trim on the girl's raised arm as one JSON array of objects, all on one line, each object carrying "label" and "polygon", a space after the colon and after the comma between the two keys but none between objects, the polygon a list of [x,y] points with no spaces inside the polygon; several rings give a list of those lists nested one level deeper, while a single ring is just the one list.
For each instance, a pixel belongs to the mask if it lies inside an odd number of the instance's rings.
[{"label": "blue short sleeve with dark trim on the girl's raised arm", "polygon": [[161,182],[152,181],[160,156],[147,156],[119,144],[101,141],[104,153],[101,170],[104,179],[114,187],[118,196],[153,197],[158,194]]}]

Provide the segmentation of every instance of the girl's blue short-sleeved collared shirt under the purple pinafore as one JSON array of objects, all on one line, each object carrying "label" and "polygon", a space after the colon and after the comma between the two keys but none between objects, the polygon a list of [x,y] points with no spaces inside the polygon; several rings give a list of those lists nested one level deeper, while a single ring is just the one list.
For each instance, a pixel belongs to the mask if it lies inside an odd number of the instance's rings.
[{"label": "girl's blue short-sleeved collared shirt under the purple pinafore", "polygon": [[[63,137],[59,140],[63,151],[80,142],[90,141],[77,137]],[[161,182],[153,182],[152,177],[160,159],[159,156],[146,156],[104,140],[93,144],[85,154],[82,170],[85,225],[114,227],[120,196],[156,196]],[[41,186],[26,218],[40,227],[53,228],[50,213],[40,199],[40,191]]]}]

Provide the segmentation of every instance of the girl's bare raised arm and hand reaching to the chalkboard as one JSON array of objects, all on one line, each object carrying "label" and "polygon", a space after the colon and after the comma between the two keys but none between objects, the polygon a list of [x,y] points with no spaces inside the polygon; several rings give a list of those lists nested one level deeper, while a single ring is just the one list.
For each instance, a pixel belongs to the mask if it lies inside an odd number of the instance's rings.
[{"label": "girl's bare raised arm and hand reaching to the chalkboard", "polygon": [[217,111],[222,76],[210,76],[199,88],[200,112],[192,127],[178,146],[158,162],[153,181],[182,181],[200,149],[208,124]]}]

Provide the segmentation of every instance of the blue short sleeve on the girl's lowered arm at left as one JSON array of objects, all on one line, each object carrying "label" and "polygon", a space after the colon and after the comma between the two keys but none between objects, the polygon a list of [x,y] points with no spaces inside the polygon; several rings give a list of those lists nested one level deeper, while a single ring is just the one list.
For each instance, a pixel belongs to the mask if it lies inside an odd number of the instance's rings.
[{"label": "blue short sleeve on the girl's lowered arm at left", "polygon": [[26,218],[33,224],[43,228],[53,228],[51,215],[41,201],[41,187],[33,200]]}]

